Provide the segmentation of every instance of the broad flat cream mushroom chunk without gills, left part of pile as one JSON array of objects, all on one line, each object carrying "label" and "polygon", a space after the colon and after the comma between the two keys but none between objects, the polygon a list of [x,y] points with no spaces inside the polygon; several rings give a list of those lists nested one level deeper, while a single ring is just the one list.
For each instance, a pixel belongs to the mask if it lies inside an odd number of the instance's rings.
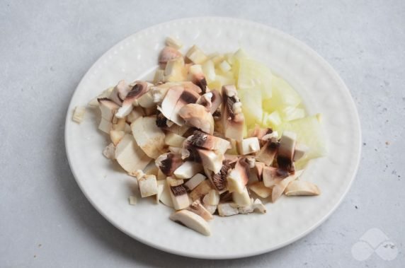
[{"label": "broad flat cream mushroom chunk without gills, left part of pile", "polygon": [[164,132],[156,126],[156,117],[139,117],[131,124],[132,135],[139,147],[151,158],[157,158],[164,149]]}]

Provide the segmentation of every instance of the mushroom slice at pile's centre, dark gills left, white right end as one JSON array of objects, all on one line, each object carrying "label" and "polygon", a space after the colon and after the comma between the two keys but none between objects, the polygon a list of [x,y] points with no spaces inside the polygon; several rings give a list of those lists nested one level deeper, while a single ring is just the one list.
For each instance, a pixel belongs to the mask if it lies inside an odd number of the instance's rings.
[{"label": "mushroom slice at pile's centre, dark gills left, white right end", "polygon": [[190,136],[189,141],[193,146],[217,151],[220,154],[224,154],[230,146],[229,141],[226,139],[221,139],[217,136],[200,132],[199,130],[196,130],[193,135]]}]

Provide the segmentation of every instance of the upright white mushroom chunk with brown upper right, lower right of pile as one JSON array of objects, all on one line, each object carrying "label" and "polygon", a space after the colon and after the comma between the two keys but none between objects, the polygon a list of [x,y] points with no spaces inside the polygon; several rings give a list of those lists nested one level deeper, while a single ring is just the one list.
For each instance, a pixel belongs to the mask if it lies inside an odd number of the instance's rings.
[{"label": "upright white mushroom chunk with brown upper right, lower right of pile", "polygon": [[239,158],[235,168],[228,171],[227,186],[229,192],[243,192],[245,185],[249,181],[249,163],[246,158]]}]

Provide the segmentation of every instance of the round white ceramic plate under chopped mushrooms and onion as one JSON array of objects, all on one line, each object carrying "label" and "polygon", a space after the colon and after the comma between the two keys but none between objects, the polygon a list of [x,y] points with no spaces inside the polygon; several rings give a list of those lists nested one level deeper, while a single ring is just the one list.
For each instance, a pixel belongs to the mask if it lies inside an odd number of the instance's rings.
[{"label": "round white ceramic plate under chopped mushrooms and onion", "polygon": [[[76,105],[86,105],[120,79],[150,76],[166,36],[184,48],[197,44],[205,52],[251,56],[287,79],[302,95],[309,114],[321,112],[329,138],[329,156],[313,161],[303,180],[319,185],[319,197],[282,197],[267,204],[267,214],[215,217],[206,237],[169,220],[171,209],[138,199],[128,204],[135,181],[101,154],[108,139],[97,130],[91,112],[72,122]],[[336,71],[316,52],[290,35],[265,25],[234,18],[186,18],[162,23],[125,38],[91,66],[74,92],[67,112],[65,141],[69,163],[91,204],[111,223],[142,243],[178,255],[226,259],[258,255],[302,238],[319,226],[341,202],[360,158],[360,124],[353,99]]]}]

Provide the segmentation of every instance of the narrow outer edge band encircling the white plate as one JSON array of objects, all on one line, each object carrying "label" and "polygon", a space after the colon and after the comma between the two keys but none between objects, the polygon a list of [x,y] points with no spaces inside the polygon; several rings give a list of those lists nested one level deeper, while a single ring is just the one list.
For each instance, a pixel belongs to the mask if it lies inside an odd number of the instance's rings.
[{"label": "narrow outer edge band encircling the white plate", "polygon": [[[314,59],[316,59],[322,65],[323,68],[327,69],[329,74],[331,74],[333,76],[333,78],[336,79],[336,81],[341,83],[341,87],[342,87],[342,89],[344,89],[342,91],[342,93],[344,93],[346,96],[348,96],[348,100],[350,100],[350,105],[352,106],[351,108],[353,109],[353,120],[355,121],[355,127],[358,129],[358,134],[359,134],[358,139],[359,140],[358,140],[358,150],[357,150],[358,154],[357,154],[357,156],[355,156],[356,157],[356,163],[354,165],[353,175],[350,177],[350,181],[348,182],[348,185],[347,185],[346,189],[344,190],[343,194],[341,194],[341,196],[339,197],[338,202],[336,202],[336,204],[334,204],[334,206],[331,209],[329,209],[329,211],[321,219],[319,219],[319,221],[312,224],[312,226],[310,228],[307,228],[306,231],[300,233],[299,235],[296,235],[294,238],[291,238],[290,240],[286,240],[284,243],[280,243],[280,244],[278,244],[278,245],[276,245],[274,247],[266,248],[266,249],[263,249],[263,250],[256,250],[254,252],[249,252],[249,253],[246,253],[246,254],[220,256],[220,255],[210,255],[210,254],[207,254],[207,253],[200,254],[200,255],[199,254],[193,254],[193,253],[183,252],[181,250],[176,250],[175,248],[166,248],[166,247],[161,247],[160,245],[156,245],[154,243],[150,243],[148,240],[146,240],[146,239],[144,239],[142,237],[139,237],[137,235],[133,235],[132,233],[129,233],[129,232],[125,231],[125,229],[120,228],[120,226],[117,223],[115,223],[115,221],[113,221],[113,219],[110,219],[103,212],[101,207],[99,207],[95,202],[93,202],[93,199],[91,199],[89,197],[89,193],[86,191],[86,188],[82,185],[81,181],[78,179],[79,175],[76,173],[76,170],[74,170],[74,168],[73,168],[72,159],[71,159],[72,151],[70,150],[69,138],[68,138],[68,129],[69,129],[68,124],[72,120],[72,109],[74,108],[73,107],[74,103],[72,102],[72,100],[74,99],[76,93],[78,92],[78,89],[81,88],[81,85],[84,83],[84,78],[86,78],[86,76],[88,76],[91,73],[91,71],[93,71],[95,66],[97,66],[99,64],[99,62],[101,62],[101,60],[105,57],[106,54],[109,54],[116,47],[118,47],[122,42],[125,42],[125,40],[129,40],[133,35],[139,35],[142,32],[147,32],[150,28],[159,27],[161,25],[165,25],[165,24],[168,24],[168,23],[178,23],[178,22],[181,22],[181,21],[190,21],[190,20],[231,20],[231,21],[236,21],[236,22],[239,22],[239,23],[248,23],[248,24],[251,24],[251,25],[258,26],[258,27],[267,28],[268,30],[272,30],[273,32],[277,33],[278,35],[283,35],[283,37],[287,37],[288,39],[292,40],[292,42],[295,42],[295,44],[300,45],[300,47],[302,49],[304,49],[305,52],[307,52],[310,55],[310,57],[313,57]],[[328,219],[329,216],[331,216],[331,214],[333,214],[333,212],[336,211],[338,206],[340,206],[341,202],[346,197],[346,194],[348,194],[348,191],[350,190],[351,186],[353,185],[353,181],[355,180],[355,177],[356,177],[356,175],[358,173],[358,167],[360,165],[360,158],[361,158],[361,151],[362,151],[362,147],[361,147],[361,144],[362,144],[362,129],[361,129],[361,124],[360,124],[360,117],[358,115],[358,109],[357,109],[357,107],[355,105],[355,101],[353,100],[353,97],[350,94],[350,91],[349,91],[348,87],[346,86],[346,83],[344,83],[341,76],[339,76],[338,72],[335,69],[333,69],[331,64],[329,64],[329,62],[327,62],[326,59],[321,57],[321,55],[318,52],[316,52],[314,49],[312,49],[311,47],[306,45],[304,42],[297,39],[296,37],[293,37],[292,35],[290,35],[288,33],[283,32],[282,30],[278,30],[277,28],[273,28],[273,27],[271,27],[269,25],[266,25],[266,24],[263,24],[263,23],[258,23],[256,21],[251,21],[251,20],[241,19],[241,18],[227,17],[227,16],[195,16],[195,17],[178,18],[178,19],[174,19],[174,20],[170,20],[170,21],[164,21],[162,23],[150,25],[147,28],[142,28],[141,30],[138,30],[135,33],[127,35],[122,40],[119,40],[118,42],[115,42],[115,44],[112,47],[110,47],[105,52],[103,52],[103,54],[101,54],[101,56],[98,57],[96,62],[94,62],[91,65],[91,67],[86,71],[84,76],[81,77],[80,82],[77,84],[74,92],[72,93],[72,97],[71,97],[71,99],[69,101],[69,106],[68,106],[67,111],[66,111],[66,120],[65,120],[65,123],[64,123],[64,144],[65,144],[65,150],[66,150],[66,153],[67,153],[67,160],[68,160],[68,163],[69,163],[70,170],[72,170],[72,174],[74,176],[74,179],[76,180],[76,183],[79,185],[79,188],[80,188],[81,192],[83,192],[86,199],[89,200],[89,202],[96,209],[96,211],[98,211],[98,213],[100,213],[105,220],[107,220],[109,223],[111,223],[113,226],[115,226],[115,228],[118,228],[118,230],[122,231],[123,233],[130,236],[131,238],[134,238],[135,240],[137,240],[137,241],[139,241],[141,243],[144,243],[145,245],[148,245],[150,247],[154,247],[154,248],[162,250],[164,252],[169,252],[169,253],[176,254],[176,255],[181,255],[181,256],[185,256],[185,257],[194,257],[194,258],[199,258],[199,259],[224,260],[224,259],[237,259],[237,258],[242,258],[242,257],[251,257],[251,256],[255,256],[255,255],[261,255],[261,254],[266,253],[266,252],[272,252],[274,250],[278,250],[281,247],[285,247],[286,245],[290,245],[291,243],[294,243],[295,241],[300,240],[304,236],[306,236],[309,233],[311,233],[312,231],[314,231],[314,229],[318,228],[322,223],[324,223],[324,221],[326,221],[326,219]]]}]

